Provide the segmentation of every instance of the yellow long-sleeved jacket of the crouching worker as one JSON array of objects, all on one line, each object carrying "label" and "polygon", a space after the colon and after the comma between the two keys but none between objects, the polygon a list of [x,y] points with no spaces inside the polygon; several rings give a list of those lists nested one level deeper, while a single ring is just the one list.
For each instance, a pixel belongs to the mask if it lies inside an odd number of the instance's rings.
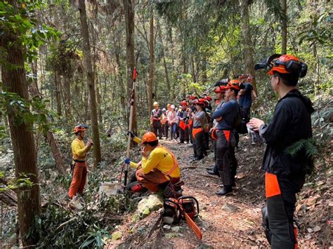
[{"label": "yellow long-sleeved jacket of the crouching worker", "polygon": [[[148,159],[143,156],[141,164],[143,173],[148,174],[150,171],[152,171],[152,169],[157,168],[157,170],[161,171],[167,177],[170,170],[176,166],[176,168],[169,174],[169,176],[172,178],[179,177],[181,175],[181,170],[179,168],[176,157],[170,153],[166,148],[159,145],[153,149],[152,152],[150,152]],[[136,168],[137,163],[131,162],[130,166]]]}]

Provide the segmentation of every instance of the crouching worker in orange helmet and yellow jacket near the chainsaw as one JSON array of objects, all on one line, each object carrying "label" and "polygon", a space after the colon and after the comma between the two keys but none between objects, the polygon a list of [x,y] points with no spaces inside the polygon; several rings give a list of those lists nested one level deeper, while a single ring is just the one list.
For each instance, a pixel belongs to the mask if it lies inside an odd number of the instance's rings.
[{"label": "crouching worker in orange helmet and yellow jacket near the chainsaw", "polygon": [[153,193],[157,192],[159,187],[164,189],[170,182],[179,182],[181,170],[176,156],[160,145],[156,135],[150,131],[143,135],[141,142],[141,163],[134,163],[129,158],[125,160],[125,163],[137,169],[138,182]]}]

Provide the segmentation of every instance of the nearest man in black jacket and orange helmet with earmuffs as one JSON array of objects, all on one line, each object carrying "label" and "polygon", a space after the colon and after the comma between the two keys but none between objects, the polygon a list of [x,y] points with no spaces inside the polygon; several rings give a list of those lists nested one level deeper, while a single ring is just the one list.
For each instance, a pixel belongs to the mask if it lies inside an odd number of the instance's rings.
[{"label": "nearest man in black jacket and orange helmet with earmuffs", "polygon": [[270,123],[251,119],[249,125],[266,142],[262,170],[266,172],[266,199],[272,248],[295,248],[296,229],[293,215],[296,193],[301,191],[311,158],[301,149],[291,156],[286,149],[300,140],[312,137],[311,101],[296,89],[299,77],[305,76],[306,65],[293,55],[281,55],[273,61],[268,74],[279,100]]}]

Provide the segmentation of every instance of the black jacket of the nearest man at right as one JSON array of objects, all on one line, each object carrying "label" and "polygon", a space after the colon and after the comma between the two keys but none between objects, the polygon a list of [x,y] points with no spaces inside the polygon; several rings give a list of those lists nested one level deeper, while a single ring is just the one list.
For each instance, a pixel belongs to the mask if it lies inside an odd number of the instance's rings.
[{"label": "black jacket of the nearest man at right", "polygon": [[281,176],[305,175],[312,164],[305,150],[292,157],[285,149],[299,140],[312,137],[313,112],[311,100],[296,89],[278,101],[273,119],[259,128],[259,134],[267,144],[262,170]]}]

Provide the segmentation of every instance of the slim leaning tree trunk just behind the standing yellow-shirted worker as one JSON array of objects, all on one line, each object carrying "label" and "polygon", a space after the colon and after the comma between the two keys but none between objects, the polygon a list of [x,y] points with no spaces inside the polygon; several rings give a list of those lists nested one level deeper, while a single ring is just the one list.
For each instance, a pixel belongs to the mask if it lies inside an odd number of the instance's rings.
[{"label": "slim leaning tree trunk just behind the standing yellow-shirted worker", "polygon": [[84,41],[84,64],[86,66],[86,79],[88,81],[90,107],[91,107],[91,128],[93,130],[93,166],[96,168],[101,161],[100,157],[100,135],[98,132],[98,116],[96,106],[96,91],[93,81],[93,67],[91,65],[91,51],[89,43],[88,23],[86,21],[85,0],[79,0],[79,12],[81,20],[81,33]]}]

